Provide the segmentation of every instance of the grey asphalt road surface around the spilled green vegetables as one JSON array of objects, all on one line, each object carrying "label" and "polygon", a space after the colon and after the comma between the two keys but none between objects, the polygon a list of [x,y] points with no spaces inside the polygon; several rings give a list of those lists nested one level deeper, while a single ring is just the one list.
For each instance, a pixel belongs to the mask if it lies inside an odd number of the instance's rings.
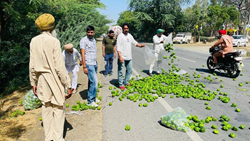
[{"label": "grey asphalt road surface around the spilled green vegetables", "polygon": [[[152,44],[148,44],[152,48]],[[149,66],[145,64],[143,49],[134,47],[133,52],[133,76],[141,74],[141,77],[148,77]],[[187,71],[190,74],[190,78],[193,78],[193,73],[201,74],[200,82],[206,85],[206,90],[216,91],[220,85],[224,85],[224,88],[220,88],[222,92],[228,93],[228,97],[231,98],[229,103],[222,103],[217,98],[209,101],[211,110],[206,110],[206,101],[197,100],[193,98],[170,98],[167,95],[165,98],[159,98],[155,102],[149,103],[148,107],[139,107],[140,102],[131,102],[124,98],[123,101],[119,101],[118,97],[111,97],[109,86],[115,86],[117,82],[117,59],[114,60],[114,73],[112,76],[102,77],[103,96],[103,141],[247,141],[249,140],[249,127],[250,127],[250,103],[249,103],[249,88],[250,84],[245,84],[243,87],[239,87],[240,82],[249,81],[250,78],[250,59],[244,58],[242,76],[239,76],[236,81],[227,77],[223,72],[216,72],[218,79],[212,76],[213,82],[204,80],[205,76],[210,73],[206,67],[206,59],[209,55],[208,52],[195,51],[189,48],[175,47],[177,60],[174,64]],[[170,54],[165,52],[164,55]],[[169,59],[163,60],[162,68],[168,70]],[[99,68],[99,70],[104,70]],[[141,72],[142,70],[142,72]],[[210,74],[211,75],[211,74]],[[194,79],[195,80],[195,79]],[[220,80],[223,80],[220,82]],[[244,89],[242,89],[244,88]],[[109,102],[112,102],[112,106],[108,106]],[[143,101],[145,102],[145,101]],[[232,103],[237,104],[237,108],[241,109],[240,113],[235,112],[235,108],[231,107]],[[223,131],[221,129],[221,122],[210,122],[205,124],[205,133],[189,132],[183,133],[179,131],[173,131],[159,124],[160,117],[166,115],[172,109],[181,107],[190,115],[198,115],[200,119],[205,119],[208,116],[214,116],[217,119],[221,115],[227,115],[230,118],[230,124],[239,127],[241,124],[246,126],[246,129],[234,132]],[[218,127],[219,134],[213,134],[211,126],[215,124]],[[130,125],[131,130],[125,131],[125,125]],[[235,133],[234,139],[228,135]]]}]

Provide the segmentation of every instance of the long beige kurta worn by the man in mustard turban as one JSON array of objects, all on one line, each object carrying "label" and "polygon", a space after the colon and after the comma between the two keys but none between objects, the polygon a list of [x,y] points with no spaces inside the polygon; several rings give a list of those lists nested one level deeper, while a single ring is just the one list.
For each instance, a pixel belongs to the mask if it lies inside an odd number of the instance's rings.
[{"label": "long beige kurta worn by the man in mustard turban", "polygon": [[64,86],[71,87],[61,52],[60,41],[49,32],[43,32],[31,40],[31,86],[37,86],[37,95],[42,102],[59,106],[65,102]]}]

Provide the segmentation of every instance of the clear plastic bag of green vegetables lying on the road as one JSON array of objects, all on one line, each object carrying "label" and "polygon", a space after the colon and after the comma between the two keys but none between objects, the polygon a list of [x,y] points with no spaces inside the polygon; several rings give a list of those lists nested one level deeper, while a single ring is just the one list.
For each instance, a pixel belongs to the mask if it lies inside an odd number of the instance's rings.
[{"label": "clear plastic bag of green vegetables lying on the road", "polygon": [[172,130],[182,132],[191,131],[188,127],[188,116],[182,108],[178,107],[167,115],[162,116],[161,123]]}]

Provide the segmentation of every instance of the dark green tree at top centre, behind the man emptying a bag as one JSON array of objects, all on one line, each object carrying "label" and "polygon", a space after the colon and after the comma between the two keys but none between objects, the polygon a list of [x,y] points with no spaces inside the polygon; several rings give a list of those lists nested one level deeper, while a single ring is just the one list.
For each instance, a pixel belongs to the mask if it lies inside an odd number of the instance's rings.
[{"label": "dark green tree at top centre, behind the man emptying a bag", "polygon": [[[184,2],[188,0],[130,0],[129,10],[133,11],[133,17],[141,24],[141,27],[137,29],[139,31],[131,30],[131,32],[142,33],[140,39],[152,41],[152,36],[158,28],[163,28],[168,32],[173,31],[182,23],[180,19],[183,15],[180,5]],[[125,19],[126,17],[122,15],[119,21],[126,21]]]}]

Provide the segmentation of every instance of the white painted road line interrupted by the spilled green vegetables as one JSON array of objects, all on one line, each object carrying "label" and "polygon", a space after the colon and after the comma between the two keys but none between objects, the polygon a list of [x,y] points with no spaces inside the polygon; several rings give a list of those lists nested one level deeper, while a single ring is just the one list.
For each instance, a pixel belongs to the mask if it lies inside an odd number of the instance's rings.
[{"label": "white painted road line interrupted by the spilled green vegetables", "polygon": [[[139,75],[139,73],[134,69],[132,68],[132,72],[135,74],[135,75]],[[157,99],[160,104],[168,111],[168,112],[171,112],[173,111],[173,108],[167,103],[167,101],[165,101],[163,98],[159,97]],[[203,141],[203,139],[201,139],[201,137],[194,131],[191,131],[191,132],[186,132],[187,135],[191,138],[191,140],[193,141]]]}]

